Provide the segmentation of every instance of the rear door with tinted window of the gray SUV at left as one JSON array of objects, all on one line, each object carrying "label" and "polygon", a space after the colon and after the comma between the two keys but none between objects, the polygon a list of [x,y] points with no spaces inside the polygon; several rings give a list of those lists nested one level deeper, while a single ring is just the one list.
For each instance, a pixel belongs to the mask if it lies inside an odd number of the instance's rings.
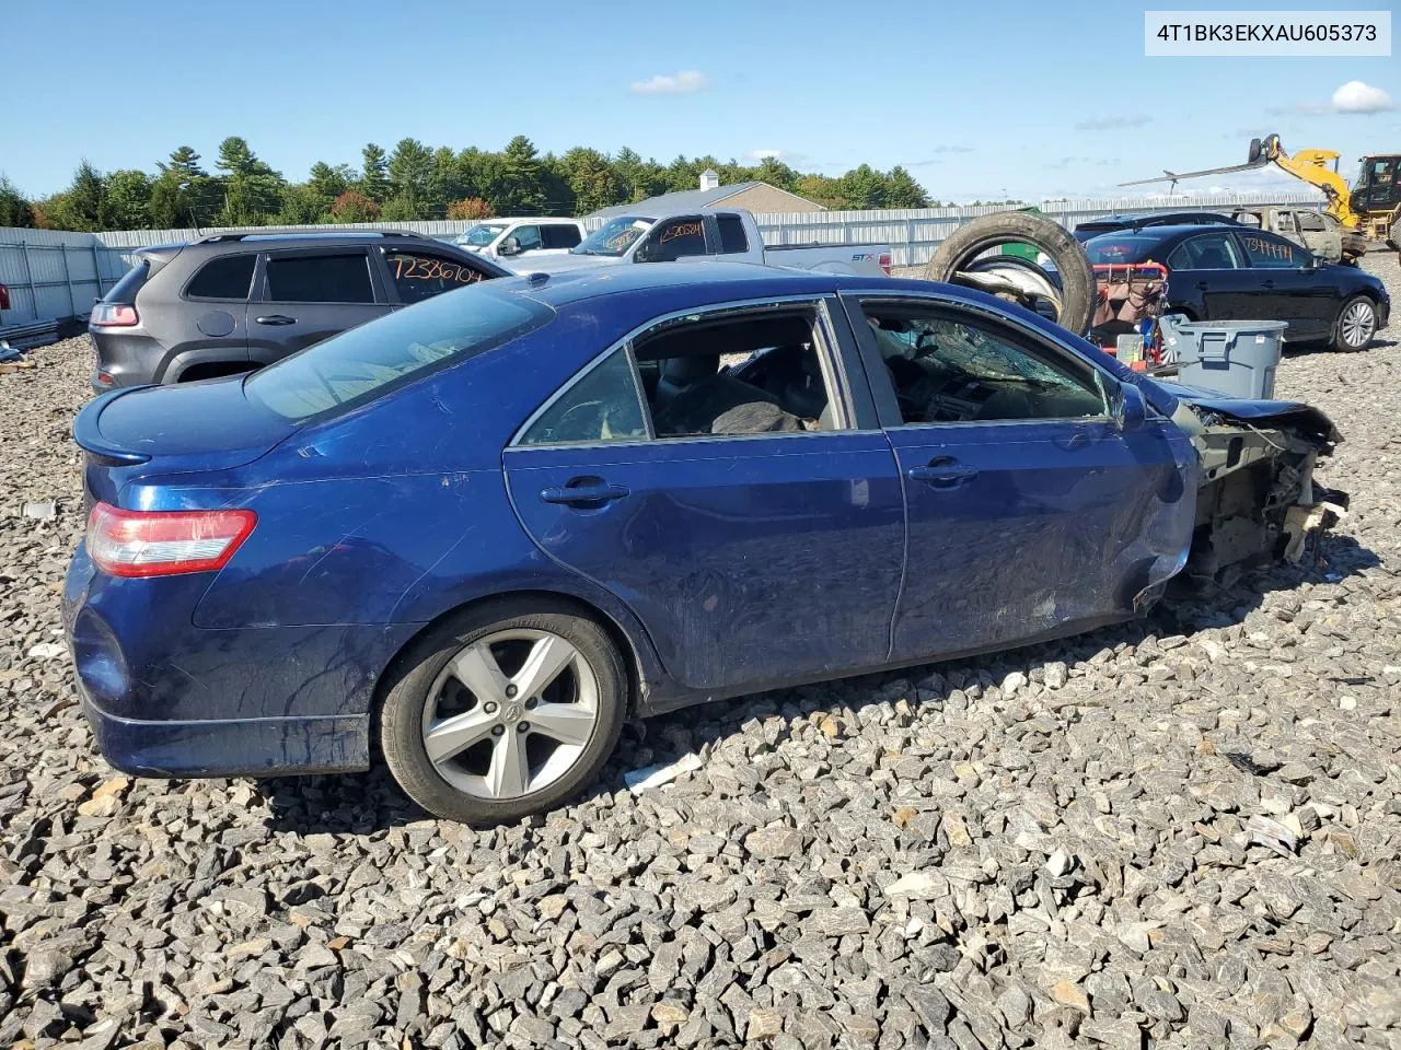
[{"label": "rear door with tinted window of the gray SUV at left", "polygon": [[248,356],[269,364],[389,312],[368,249],[283,248],[265,252],[248,304]]}]

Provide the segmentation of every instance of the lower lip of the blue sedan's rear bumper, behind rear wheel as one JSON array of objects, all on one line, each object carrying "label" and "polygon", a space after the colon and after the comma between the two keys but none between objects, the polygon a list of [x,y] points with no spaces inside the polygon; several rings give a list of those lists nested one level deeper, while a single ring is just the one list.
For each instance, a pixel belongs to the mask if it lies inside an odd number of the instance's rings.
[{"label": "lower lip of the blue sedan's rear bumper, behind rear wheel", "polygon": [[151,722],[108,714],[81,683],[78,696],[102,757],[139,777],[280,777],[370,767],[370,715]]}]

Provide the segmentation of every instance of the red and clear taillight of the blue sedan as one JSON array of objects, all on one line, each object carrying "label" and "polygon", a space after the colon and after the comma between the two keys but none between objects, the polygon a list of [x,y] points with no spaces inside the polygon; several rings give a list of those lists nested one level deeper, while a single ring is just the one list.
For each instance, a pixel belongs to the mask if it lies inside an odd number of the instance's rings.
[{"label": "red and clear taillight of the blue sedan", "polygon": [[123,511],[99,503],[87,549],[108,575],[146,577],[223,568],[258,524],[252,511]]}]

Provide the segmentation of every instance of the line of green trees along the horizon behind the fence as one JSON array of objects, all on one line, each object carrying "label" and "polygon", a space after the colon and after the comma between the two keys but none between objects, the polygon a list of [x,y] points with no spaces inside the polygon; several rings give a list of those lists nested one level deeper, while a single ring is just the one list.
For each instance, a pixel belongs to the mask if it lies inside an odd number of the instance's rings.
[{"label": "line of green trees along the horizon behind the fence", "polygon": [[499,153],[432,148],[417,139],[403,139],[385,153],[370,143],[359,167],[318,161],[305,182],[286,179],[238,136],[219,144],[213,172],[189,146],[156,168],[101,172],[83,161],[67,189],[35,200],[0,176],[0,227],[101,231],[584,216],[696,189],[706,168],[719,172],[722,185],[761,179],[831,209],[937,206],[898,165],[883,172],[862,164],[829,178],[772,157],[755,165],[677,157],[661,165],[628,148],[605,154],[574,147],[541,155],[523,134]]}]

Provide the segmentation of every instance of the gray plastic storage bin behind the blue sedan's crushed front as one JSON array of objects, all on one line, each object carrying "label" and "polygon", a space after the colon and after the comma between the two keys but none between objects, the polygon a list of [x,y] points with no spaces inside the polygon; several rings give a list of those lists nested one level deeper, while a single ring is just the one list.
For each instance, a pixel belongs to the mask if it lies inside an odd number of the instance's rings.
[{"label": "gray plastic storage bin behind the blue sedan's crushed front", "polygon": [[1167,360],[1178,364],[1188,386],[1229,398],[1274,398],[1283,321],[1187,321],[1181,314],[1157,319]]}]

